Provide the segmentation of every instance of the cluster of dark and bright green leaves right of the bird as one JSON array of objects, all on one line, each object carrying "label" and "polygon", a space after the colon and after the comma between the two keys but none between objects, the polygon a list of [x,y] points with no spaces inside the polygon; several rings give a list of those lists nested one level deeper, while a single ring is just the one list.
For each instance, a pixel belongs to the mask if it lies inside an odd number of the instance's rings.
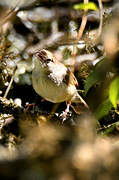
[{"label": "cluster of dark and bright green leaves right of the bird", "polygon": [[[93,88],[96,84],[102,87],[102,102],[95,110],[95,116],[98,120],[106,116],[112,107],[117,108],[119,98],[119,76],[114,80],[111,80],[110,86],[106,87],[106,95],[104,95],[104,87],[102,86],[102,84],[108,81],[107,73],[110,71],[109,66],[110,64],[108,61],[100,61],[85,81],[85,94],[87,94],[90,88]],[[93,89],[93,91],[95,93],[95,89]]]}]

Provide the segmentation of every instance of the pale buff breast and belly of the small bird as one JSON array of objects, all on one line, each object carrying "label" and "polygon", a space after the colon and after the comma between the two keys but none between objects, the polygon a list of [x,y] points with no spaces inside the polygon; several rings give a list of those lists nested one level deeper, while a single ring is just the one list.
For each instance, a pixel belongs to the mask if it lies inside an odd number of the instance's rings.
[{"label": "pale buff breast and belly of the small bird", "polygon": [[59,103],[71,99],[76,91],[75,86],[68,86],[64,82],[58,86],[53,82],[46,73],[33,71],[32,73],[33,87],[35,91],[44,99]]}]

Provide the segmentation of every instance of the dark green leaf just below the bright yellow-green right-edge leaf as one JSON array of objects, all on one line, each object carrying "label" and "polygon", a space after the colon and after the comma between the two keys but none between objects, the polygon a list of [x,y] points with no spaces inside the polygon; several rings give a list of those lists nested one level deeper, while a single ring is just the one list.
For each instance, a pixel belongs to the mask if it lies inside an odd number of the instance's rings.
[{"label": "dark green leaf just below the bright yellow-green right-edge leaf", "polygon": [[103,103],[100,104],[95,111],[96,119],[99,120],[102,117],[106,116],[112,107],[113,107],[113,105],[109,99],[106,99],[105,101],[103,101]]}]

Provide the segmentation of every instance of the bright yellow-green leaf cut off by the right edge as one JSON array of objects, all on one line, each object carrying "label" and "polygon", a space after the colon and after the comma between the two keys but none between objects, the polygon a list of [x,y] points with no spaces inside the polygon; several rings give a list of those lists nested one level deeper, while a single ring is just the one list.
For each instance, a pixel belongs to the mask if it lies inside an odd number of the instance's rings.
[{"label": "bright yellow-green leaf cut off by the right edge", "polygon": [[118,97],[119,97],[119,76],[116,77],[111,82],[109,87],[109,99],[115,108],[117,108]]}]

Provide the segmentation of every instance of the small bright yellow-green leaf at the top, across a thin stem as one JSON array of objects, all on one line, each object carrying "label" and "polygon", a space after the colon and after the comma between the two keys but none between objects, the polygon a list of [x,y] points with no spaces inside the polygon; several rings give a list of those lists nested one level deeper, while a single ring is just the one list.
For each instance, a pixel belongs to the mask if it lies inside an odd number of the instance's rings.
[{"label": "small bright yellow-green leaf at the top, across a thin stem", "polygon": [[76,9],[76,10],[94,10],[94,11],[97,11],[98,7],[96,6],[95,3],[89,2],[89,3],[75,4],[74,9]]}]

